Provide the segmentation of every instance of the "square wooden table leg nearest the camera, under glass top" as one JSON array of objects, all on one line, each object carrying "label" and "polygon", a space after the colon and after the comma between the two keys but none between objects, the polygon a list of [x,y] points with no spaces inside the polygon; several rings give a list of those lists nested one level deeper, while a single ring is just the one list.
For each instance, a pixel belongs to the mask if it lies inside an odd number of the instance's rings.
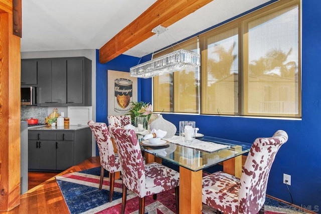
[{"label": "square wooden table leg nearest the camera, under glass top", "polygon": [[202,173],[180,166],[180,213],[202,213]]}]

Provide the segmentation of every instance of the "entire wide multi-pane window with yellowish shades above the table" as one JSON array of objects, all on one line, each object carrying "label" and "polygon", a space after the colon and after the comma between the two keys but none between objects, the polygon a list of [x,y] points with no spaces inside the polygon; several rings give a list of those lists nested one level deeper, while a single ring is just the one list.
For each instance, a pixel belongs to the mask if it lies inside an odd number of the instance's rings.
[{"label": "entire wide multi-pane window with yellowish shades above the table", "polygon": [[286,0],[186,41],[199,43],[201,73],[153,78],[154,111],[300,117],[299,24],[299,1]]}]

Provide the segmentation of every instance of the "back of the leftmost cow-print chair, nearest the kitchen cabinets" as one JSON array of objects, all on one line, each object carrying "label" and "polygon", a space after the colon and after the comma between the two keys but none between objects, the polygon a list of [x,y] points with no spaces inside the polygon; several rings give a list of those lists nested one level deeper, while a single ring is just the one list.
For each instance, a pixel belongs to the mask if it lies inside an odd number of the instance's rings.
[{"label": "back of the leftmost cow-print chair, nearest the kitchen cabinets", "polygon": [[106,123],[97,123],[90,120],[88,126],[96,138],[102,167],[110,173],[119,171],[120,162],[115,161],[115,153]]}]

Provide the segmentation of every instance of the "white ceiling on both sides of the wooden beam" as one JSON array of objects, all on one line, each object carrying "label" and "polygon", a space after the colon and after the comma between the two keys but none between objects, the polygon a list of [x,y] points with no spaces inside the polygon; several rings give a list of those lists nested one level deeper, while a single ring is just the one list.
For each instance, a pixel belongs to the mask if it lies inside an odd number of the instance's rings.
[{"label": "white ceiling on both sides of the wooden beam", "polygon": [[[142,57],[270,0],[214,0],[124,54]],[[21,51],[100,49],[155,0],[23,0]],[[164,36],[163,36],[164,35]]]}]

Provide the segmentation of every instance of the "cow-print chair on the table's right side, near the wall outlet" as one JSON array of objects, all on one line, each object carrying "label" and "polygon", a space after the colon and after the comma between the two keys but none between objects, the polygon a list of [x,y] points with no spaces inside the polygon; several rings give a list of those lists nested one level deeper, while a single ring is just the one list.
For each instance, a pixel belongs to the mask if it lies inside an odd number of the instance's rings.
[{"label": "cow-print chair on the table's right side, near the wall outlet", "polygon": [[266,186],[278,149],[287,141],[285,131],[257,138],[248,153],[241,178],[224,172],[203,177],[202,202],[224,213],[257,213],[265,202]]}]

